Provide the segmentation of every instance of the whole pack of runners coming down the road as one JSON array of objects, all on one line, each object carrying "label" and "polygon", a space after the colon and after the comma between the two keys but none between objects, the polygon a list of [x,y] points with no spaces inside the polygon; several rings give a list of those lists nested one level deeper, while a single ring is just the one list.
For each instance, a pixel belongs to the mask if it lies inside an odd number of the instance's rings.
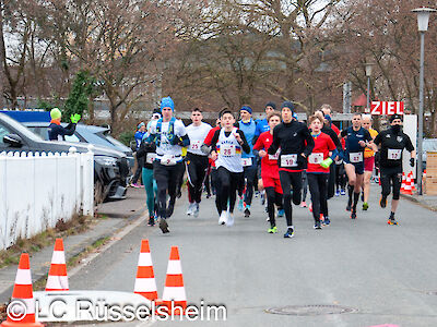
[{"label": "whole pack of runners coming down the road", "polygon": [[[369,208],[370,180],[379,172],[380,207],[387,206],[392,193],[389,225],[398,225],[395,210],[402,183],[403,149],[415,150],[402,132],[403,117],[389,117],[389,128],[378,133],[371,129],[371,117],[354,113],[351,126],[340,131],[331,120],[331,107],[323,105],[298,121],[291,101],[276,111],[274,102],[265,105],[264,119],[253,120],[252,108],[243,106],[236,114],[224,108],[215,126],[202,121],[194,108],[192,123],[185,126],[174,117],[170,97],[163,98],[151,121],[140,124],[137,157],[142,166],[150,214],[149,226],[168,233],[167,219],[187,175],[189,205],[187,215],[197,217],[203,189],[215,195],[218,223],[234,225],[234,211],[250,217],[255,194],[265,206],[269,233],[276,233],[276,217],[285,216],[284,238],[293,238],[293,205],[306,207],[309,189],[314,228],[331,223],[328,202],[347,195],[345,209],[357,218],[359,198],[363,210]],[[138,174],[139,175],[139,174]],[[138,177],[137,177],[138,178]]]}]

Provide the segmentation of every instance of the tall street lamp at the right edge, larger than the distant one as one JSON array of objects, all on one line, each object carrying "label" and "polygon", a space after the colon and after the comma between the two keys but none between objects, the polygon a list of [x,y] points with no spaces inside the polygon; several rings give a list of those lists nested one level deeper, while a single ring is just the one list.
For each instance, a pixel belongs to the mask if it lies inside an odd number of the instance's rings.
[{"label": "tall street lamp at the right edge, larger than the distant one", "polygon": [[420,71],[420,84],[418,84],[418,135],[417,135],[417,191],[418,195],[422,195],[422,158],[423,158],[423,116],[424,116],[424,61],[425,61],[425,32],[428,31],[429,14],[435,12],[435,9],[430,8],[416,8],[412,12],[417,13],[417,27],[421,34],[421,71]]}]

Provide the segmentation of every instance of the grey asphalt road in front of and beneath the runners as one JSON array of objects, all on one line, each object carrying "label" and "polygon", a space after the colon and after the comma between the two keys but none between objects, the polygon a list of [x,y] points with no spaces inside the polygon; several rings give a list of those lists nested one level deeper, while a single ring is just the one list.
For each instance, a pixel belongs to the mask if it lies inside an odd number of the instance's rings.
[{"label": "grey asphalt road in front of and beneath the runners", "polygon": [[[227,320],[213,326],[437,326],[436,214],[403,199],[400,226],[388,226],[389,209],[377,206],[378,194],[375,185],[369,210],[359,209],[356,220],[345,211],[345,196],[331,199],[332,223],[322,230],[312,229],[308,209],[294,207],[294,239],[283,238],[285,219],[277,234],[267,233],[258,198],[250,218],[237,211],[227,228],[217,225],[213,198],[202,201],[198,218],[187,217],[184,194],[169,234],[142,223],[70,278],[70,289],[133,291],[141,239],[149,239],[158,295],[170,246],[178,245],[188,302],[227,307]],[[352,312],[320,315],[306,305]],[[265,312],[283,306],[302,307],[299,315]],[[155,323],[170,324],[205,325]]]}]

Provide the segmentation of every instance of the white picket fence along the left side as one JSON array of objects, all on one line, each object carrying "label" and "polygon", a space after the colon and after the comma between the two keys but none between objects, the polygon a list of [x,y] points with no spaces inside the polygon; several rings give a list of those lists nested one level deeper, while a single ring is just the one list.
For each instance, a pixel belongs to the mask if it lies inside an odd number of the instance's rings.
[{"label": "white picket fence along the left side", "polygon": [[0,154],[0,250],[94,213],[94,155]]}]

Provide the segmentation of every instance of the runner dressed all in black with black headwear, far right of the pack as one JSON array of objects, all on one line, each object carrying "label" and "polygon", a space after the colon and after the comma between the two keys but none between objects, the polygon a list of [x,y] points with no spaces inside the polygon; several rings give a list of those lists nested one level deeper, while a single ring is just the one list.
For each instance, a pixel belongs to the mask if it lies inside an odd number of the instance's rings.
[{"label": "runner dressed all in black with black headwear, far right of the pack", "polygon": [[398,225],[394,218],[399,205],[399,195],[402,184],[402,152],[406,148],[411,153],[410,166],[414,167],[416,152],[409,135],[402,132],[402,116],[394,114],[390,117],[390,129],[382,131],[375,137],[375,144],[380,146],[380,180],[381,198],[379,204],[382,208],[387,206],[387,196],[390,194],[390,187],[393,186],[393,198],[391,201],[391,213],[387,220],[388,225]]}]

